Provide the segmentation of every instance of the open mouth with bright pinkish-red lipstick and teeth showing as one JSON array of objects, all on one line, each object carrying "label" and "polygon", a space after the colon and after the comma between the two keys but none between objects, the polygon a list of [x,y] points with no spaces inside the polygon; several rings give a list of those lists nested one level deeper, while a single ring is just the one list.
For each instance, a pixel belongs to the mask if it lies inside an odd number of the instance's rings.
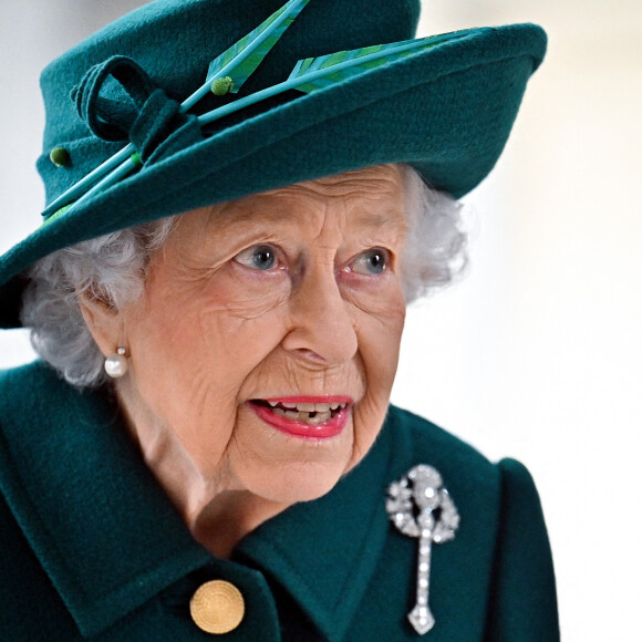
[{"label": "open mouth with bright pinkish-red lipstick and teeth showing", "polygon": [[252,400],[255,413],[267,424],[298,437],[327,438],[341,433],[348,423],[352,400],[332,397],[323,401],[293,398]]}]

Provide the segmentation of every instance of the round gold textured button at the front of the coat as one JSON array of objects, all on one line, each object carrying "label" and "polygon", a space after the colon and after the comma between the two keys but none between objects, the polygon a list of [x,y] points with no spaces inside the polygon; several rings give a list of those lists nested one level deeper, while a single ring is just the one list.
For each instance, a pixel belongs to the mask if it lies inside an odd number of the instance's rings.
[{"label": "round gold textured button at the front of the coat", "polygon": [[189,611],[199,629],[206,633],[221,635],[234,631],[241,623],[246,604],[240,591],[234,584],[213,580],[194,593]]}]

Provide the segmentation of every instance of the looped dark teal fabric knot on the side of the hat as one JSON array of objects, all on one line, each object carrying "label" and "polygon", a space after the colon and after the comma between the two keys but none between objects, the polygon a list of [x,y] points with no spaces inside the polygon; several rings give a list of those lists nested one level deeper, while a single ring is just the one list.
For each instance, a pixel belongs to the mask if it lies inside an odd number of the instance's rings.
[{"label": "looped dark teal fabric knot on the side of the hat", "polygon": [[92,66],[72,92],[76,110],[103,141],[130,139],[144,164],[204,139],[198,118],[180,111],[134,60],[115,55]]}]

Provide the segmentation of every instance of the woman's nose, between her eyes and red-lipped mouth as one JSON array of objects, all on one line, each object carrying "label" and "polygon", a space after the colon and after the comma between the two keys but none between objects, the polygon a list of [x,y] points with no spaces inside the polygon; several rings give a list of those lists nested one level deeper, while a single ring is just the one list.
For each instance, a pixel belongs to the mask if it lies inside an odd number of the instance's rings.
[{"label": "woman's nose, between her eyes and red-lipped mouth", "polygon": [[290,320],[286,350],[324,365],[340,365],[356,353],[351,304],[341,296],[333,268],[317,266],[301,277],[290,298]]}]

